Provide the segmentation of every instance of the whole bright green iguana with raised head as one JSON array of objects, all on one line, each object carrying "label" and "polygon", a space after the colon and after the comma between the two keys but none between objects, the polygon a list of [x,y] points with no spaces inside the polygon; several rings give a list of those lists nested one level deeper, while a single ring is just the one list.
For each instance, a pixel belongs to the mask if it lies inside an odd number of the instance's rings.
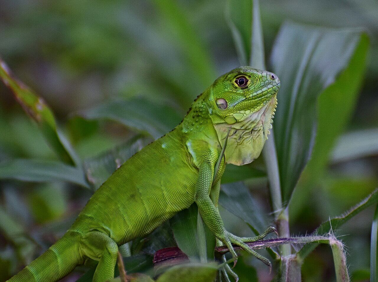
[{"label": "whole bright green iguana with raised head", "polygon": [[[237,85],[241,76],[248,80],[246,86]],[[225,164],[250,163],[261,153],[279,86],[271,72],[248,66],[219,77],[174,130],[116,170],[67,233],[9,281],[57,281],[88,258],[99,261],[93,281],[111,279],[118,246],[149,234],[194,202],[204,223],[232,256],[236,256],[234,243],[270,265],[244,242],[262,238],[274,228],[259,237],[237,237],[225,230],[217,204]],[[214,172],[228,133],[225,155]]]}]

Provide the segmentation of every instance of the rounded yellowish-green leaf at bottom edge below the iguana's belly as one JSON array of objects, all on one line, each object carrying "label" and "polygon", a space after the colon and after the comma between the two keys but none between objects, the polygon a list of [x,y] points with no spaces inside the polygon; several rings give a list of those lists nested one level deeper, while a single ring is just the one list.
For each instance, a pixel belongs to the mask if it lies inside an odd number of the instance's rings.
[{"label": "rounded yellowish-green leaf at bottom edge below the iguana's belly", "polygon": [[214,281],[217,264],[181,264],[169,268],[156,280],[157,282],[209,282]]}]

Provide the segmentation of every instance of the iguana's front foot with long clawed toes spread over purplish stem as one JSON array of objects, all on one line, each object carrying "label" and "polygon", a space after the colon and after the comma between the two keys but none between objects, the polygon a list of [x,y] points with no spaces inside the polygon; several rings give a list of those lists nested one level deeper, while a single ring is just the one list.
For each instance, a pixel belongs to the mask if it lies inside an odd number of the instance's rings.
[{"label": "iguana's front foot with long clawed toes spread over purplish stem", "polygon": [[[258,254],[256,251],[252,250],[252,248],[249,247],[245,242],[254,242],[254,241],[263,239],[266,235],[268,235],[272,232],[277,233],[276,228],[269,227],[262,234],[260,234],[259,236],[256,236],[256,237],[237,237],[234,234],[231,234],[228,231],[226,231],[226,238],[225,238],[224,243],[227,246],[229,252],[232,254],[232,257],[237,257],[237,254],[236,254],[234,248],[232,247],[232,244],[235,244],[235,245],[239,246],[240,248],[242,248],[243,250],[245,250],[247,253],[249,253],[249,254],[255,256],[257,259],[261,260],[271,270],[272,265],[271,265],[270,261],[268,259],[266,259],[265,257],[263,257],[262,255]],[[234,260],[234,267],[235,267],[236,263],[237,263],[237,259]]]}]

